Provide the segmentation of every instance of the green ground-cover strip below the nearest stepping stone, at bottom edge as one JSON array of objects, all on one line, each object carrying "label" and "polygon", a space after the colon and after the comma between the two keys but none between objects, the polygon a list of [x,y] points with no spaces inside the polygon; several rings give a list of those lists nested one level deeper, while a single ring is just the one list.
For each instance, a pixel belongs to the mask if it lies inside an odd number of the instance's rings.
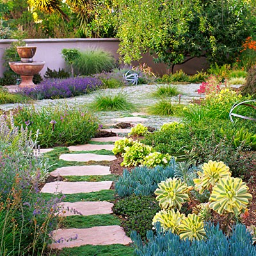
[{"label": "green ground-cover strip below the nearest stepping stone, at bottom edge", "polygon": [[58,256],[132,256],[134,248],[122,244],[83,245],[77,248],[63,248]]}]

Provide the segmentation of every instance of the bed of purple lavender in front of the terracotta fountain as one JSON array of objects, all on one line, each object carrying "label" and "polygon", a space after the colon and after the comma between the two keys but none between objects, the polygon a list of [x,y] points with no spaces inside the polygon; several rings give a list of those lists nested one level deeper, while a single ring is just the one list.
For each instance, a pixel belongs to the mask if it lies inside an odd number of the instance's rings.
[{"label": "bed of purple lavender in front of the terracotta fountain", "polygon": [[45,79],[35,88],[23,90],[33,99],[61,99],[83,95],[99,88],[102,82],[93,77],[74,77],[67,79]]}]

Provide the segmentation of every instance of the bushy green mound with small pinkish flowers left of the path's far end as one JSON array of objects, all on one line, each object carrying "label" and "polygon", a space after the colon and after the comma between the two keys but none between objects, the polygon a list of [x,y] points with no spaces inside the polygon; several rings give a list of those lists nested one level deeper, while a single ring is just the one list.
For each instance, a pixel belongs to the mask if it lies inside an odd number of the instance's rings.
[{"label": "bushy green mound with small pinkish flowers left of the path's far end", "polygon": [[99,128],[97,120],[78,106],[61,104],[40,109],[24,107],[14,110],[15,124],[28,127],[32,134],[39,129],[41,147],[74,145],[88,142]]}]

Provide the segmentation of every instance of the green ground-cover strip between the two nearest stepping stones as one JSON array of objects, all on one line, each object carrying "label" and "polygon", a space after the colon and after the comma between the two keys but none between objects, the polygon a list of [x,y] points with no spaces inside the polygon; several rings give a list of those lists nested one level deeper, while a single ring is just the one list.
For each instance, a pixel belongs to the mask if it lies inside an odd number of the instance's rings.
[{"label": "green ground-cover strip between the two nearest stepping stones", "polygon": [[90,216],[67,216],[61,224],[65,228],[92,228],[99,226],[121,225],[120,219],[113,214],[96,214]]}]

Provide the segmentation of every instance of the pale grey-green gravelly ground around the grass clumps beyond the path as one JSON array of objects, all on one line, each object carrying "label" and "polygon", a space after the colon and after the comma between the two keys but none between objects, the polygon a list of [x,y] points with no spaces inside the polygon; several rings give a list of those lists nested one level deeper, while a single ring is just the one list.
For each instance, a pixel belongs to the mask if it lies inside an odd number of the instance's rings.
[{"label": "pale grey-green gravelly ground around the grass clumps beyond the path", "polygon": [[[76,105],[88,105],[90,104],[95,95],[98,93],[118,93],[123,92],[127,95],[127,98],[130,102],[136,104],[138,109],[136,112],[145,112],[145,108],[147,106],[150,106],[157,102],[159,99],[152,98],[151,93],[154,92],[157,89],[157,86],[160,84],[143,84],[139,86],[127,86],[124,88],[116,88],[116,89],[104,89],[104,90],[98,90],[95,92],[92,92],[87,95],[82,95],[78,97],[72,97],[67,99],[56,99],[56,100],[35,100],[33,102],[33,105],[36,108],[40,108],[42,106],[53,106],[55,104],[76,104]],[[191,102],[192,99],[198,99],[200,95],[198,95],[197,91],[200,87],[200,84],[175,84],[177,89],[182,94],[181,96],[181,103],[182,104],[188,104]],[[179,102],[179,97],[172,97],[170,100],[172,102]],[[12,109],[16,108],[17,106],[20,106],[22,104],[4,104],[0,105],[0,109]],[[112,112],[95,112],[95,115],[99,118],[100,122],[102,124],[105,124],[106,126],[113,127],[115,122],[113,122],[113,118],[122,118],[125,116],[132,116],[131,113],[127,111],[112,111]],[[140,116],[140,115],[139,115]],[[175,116],[156,116],[156,115],[141,115],[141,117],[147,118],[147,122],[144,124],[150,127],[154,127],[159,129],[161,125],[163,125],[166,122],[172,122],[177,121],[179,118]]]}]

